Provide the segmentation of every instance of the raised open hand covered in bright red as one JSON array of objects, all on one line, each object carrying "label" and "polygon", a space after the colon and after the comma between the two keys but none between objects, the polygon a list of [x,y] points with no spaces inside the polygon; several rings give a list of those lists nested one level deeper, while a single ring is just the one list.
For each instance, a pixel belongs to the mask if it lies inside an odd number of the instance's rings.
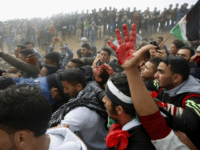
[{"label": "raised open hand covered in bright red", "polygon": [[133,53],[135,52],[135,38],[136,38],[136,25],[133,24],[131,26],[131,37],[129,39],[129,31],[126,24],[123,25],[124,30],[124,41],[120,35],[119,29],[115,32],[117,34],[119,47],[115,46],[111,41],[108,41],[108,44],[116,51],[118,61],[121,65],[125,63],[126,60],[129,60],[133,57]]}]

